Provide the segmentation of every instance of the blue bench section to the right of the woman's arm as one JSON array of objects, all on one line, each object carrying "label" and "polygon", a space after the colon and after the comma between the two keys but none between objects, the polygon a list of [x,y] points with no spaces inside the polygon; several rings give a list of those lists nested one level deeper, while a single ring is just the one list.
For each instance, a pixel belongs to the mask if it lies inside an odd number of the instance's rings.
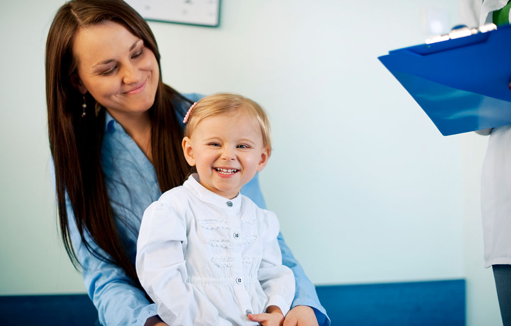
[{"label": "blue bench section to the right of the woman's arm", "polygon": [[317,286],[332,326],[464,326],[465,281]]}]

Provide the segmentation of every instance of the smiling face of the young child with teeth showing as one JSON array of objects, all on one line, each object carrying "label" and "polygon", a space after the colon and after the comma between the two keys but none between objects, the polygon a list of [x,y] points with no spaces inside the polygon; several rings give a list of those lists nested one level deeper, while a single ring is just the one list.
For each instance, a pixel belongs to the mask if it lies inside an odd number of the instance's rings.
[{"label": "smiling face of the young child with teeth showing", "polygon": [[269,154],[258,124],[242,112],[205,118],[182,146],[200,184],[228,199],[264,168]]}]

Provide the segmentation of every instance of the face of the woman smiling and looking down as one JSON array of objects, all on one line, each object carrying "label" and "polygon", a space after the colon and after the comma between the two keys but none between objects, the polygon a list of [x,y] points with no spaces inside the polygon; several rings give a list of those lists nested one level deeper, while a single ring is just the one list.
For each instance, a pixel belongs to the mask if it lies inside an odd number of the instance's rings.
[{"label": "face of the woman smiling and looking down", "polygon": [[159,69],[154,53],[123,25],[106,21],[80,29],[74,39],[76,87],[115,117],[147,111],[154,103]]}]

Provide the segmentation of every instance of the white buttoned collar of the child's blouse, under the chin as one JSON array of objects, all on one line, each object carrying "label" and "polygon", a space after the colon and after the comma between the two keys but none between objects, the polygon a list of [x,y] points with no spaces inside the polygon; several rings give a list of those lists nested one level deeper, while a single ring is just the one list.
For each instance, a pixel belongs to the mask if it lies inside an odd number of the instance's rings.
[{"label": "white buttoned collar of the child's blouse, under the chin", "polygon": [[233,199],[227,199],[217,195],[214,192],[207,190],[203,187],[202,184],[199,183],[199,175],[197,173],[194,173],[188,177],[188,179],[184,181],[183,187],[192,192],[192,194],[199,198],[201,201],[218,206],[227,213],[238,213],[240,211],[240,193],[238,193],[238,195]]}]

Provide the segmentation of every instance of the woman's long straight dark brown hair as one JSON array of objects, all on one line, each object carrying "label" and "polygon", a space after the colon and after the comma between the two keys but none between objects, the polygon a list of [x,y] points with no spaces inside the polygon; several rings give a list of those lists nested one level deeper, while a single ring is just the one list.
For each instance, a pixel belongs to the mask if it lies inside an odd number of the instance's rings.
[{"label": "woman's long straight dark brown hair", "polygon": [[[80,28],[116,21],[140,37],[159,60],[156,40],[147,22],[122,0],[74,0],[64,4],[53,20],[46,44],[46,97],[50,149],[55,166],[59,223],[64,247],[75,268],[81,267],[69,233],[74,218],[85,248],[97,258],[121,267],[133,284],[141,288],[127,248],[118,234],[101,168],[101,144],[105,109],[98,117],[97,105],[88,93],[82,114],[83,95],[73,87],[77,76],[73,38]],[[153,165],[162,192],[181,184],[189,167],[181,151],[182,130],[175,106],[187,101],[161,81],[161,73],[151,118]],[[66,208],[66,194],[71,210]],[[73,216],[68,216],[73,212]],[[122,216],[115,218],[122,219]],[[94,241],[100,248],[95,249]]]}]

